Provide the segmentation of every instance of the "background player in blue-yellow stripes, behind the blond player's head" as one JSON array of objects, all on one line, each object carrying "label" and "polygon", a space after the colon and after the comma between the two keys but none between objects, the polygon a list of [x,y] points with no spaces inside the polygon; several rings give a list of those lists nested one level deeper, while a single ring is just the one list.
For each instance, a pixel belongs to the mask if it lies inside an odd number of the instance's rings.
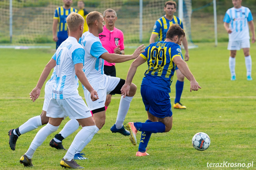
[{"label": "background player in blue-yellow stripes, behind the blond player's head", "polygon": [[[77,12],[77,9],[71,7],[72,0],[63,0],[63,2],[63,6],[55,9],[53,17],[53,41],[56,41],[56,49],[68,38],[66,18],[71,12]],[[58,23],[59,31],[56,35]]]}]

